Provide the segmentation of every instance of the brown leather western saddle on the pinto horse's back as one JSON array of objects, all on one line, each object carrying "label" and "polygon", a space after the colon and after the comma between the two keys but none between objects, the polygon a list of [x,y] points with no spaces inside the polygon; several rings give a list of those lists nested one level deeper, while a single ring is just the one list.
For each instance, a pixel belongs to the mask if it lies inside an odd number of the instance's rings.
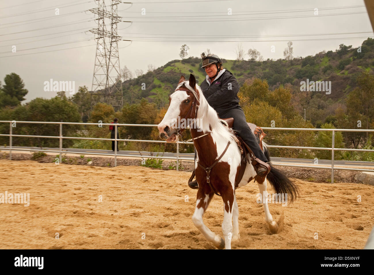
[{"label": "brown leather western saddle on the pinto horse's back", "polygon": [[[234,123],[234,118],[233,117],[229,117],[229,118],[226,118],[226,119],[221,119],[220,118],[220,120],[224,125],[226,125],[229,128],[232,128],[233,123]],[[258,127],[257,125],[255,125],[253,123],[249,123],[249,122],[247,122],[247,123],[248,123],[249,128],[251,129],[251,131],[255,135],[258,145],[260,146],[261,150],[263,151],[264,149],[263,149],[263,146],[262,146],[262,140],[266,136],[266,134],[264,133],[263,129],[261,129],[261,127]],[[243,141],[243,139],[240,137],[240,135],[236,131],[232,130],[231,132],[236,137],[235,141],[236,141],[237,145],[239,146],[240,153],[241,153],[241,162],[240,162],[239,174],[235,178],[235,188],[237,188],[237,186],[239,185],[240,181],[243,178],[244,171],[245,171],[245,168],[246,168],[247,163],[248,163],[247,155],[249,154],[251,159],[255,158],[255,155],[252,152],[251,148],[248,147],[248,145]]]}]

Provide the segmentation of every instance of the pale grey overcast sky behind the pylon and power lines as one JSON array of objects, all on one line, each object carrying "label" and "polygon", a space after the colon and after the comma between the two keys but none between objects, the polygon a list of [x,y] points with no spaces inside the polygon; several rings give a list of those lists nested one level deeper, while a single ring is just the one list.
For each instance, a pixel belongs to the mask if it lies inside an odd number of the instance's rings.
[{"label": "pale grey overcast sky behind the pylon and power lines", "polygon": [[[49,79],[75,81],[76,91],[84,85],[91,89],[96,42],[88,30],[96,28],[97,21],[92,19],[93,13],[85,10],[97,7],[96,3],[93,0],[0,0],[2,84],[6,74],[19,74],[29,91],[26,102],[36,97],[54,97],[56,92],[43,89],[43,83]],[[105,4],[109,5],[110,1],[105,0]],[[56,8],[59,15],[55,15]],[[357,47],[364,37],[373,37],[363,0],[140,0],[132,5],[121,3],[118,10],[122,21],[133,21],[118,24],[119,35],[134,40],[119,42],[120,66],[126,65],[133,72],[140,69],[145,73],[148,64],[157,68],[172,59],[180,59],[183,44],[190,47],[189,56],[200,56],[209,48],[221,58],[236,59],[235,49],[241,43],[246,52],[255,48],[264,59],[278,59],[283,58],[288,41],[293,42],[297,57],[323,50],[335,51],[341,43]],[[232,14],[228,15],[230,11]],[[349,39],[352,37],[361,38]],[[67,49],[80,46],[85,47]],[[271,51],[272,46],[275,52]],[[55,51],[58,49],[66,50]]]}]

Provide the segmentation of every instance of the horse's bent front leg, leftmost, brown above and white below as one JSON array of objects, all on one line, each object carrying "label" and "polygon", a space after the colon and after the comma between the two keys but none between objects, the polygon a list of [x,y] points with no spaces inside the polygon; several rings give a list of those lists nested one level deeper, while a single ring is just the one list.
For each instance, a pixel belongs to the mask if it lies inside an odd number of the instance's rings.
[{"label": "horse's bent front leg, leftmost, brown above and white below", "polygon": [[209,202],[214,196],[214,193],[211,192],[210,188],[205,189],[204,186],[200,187],[197,191],[197,200],[195,212],[192,216],[193,224],[200,230],[200,232],[205,236],[205,238],[214,244],[215,247],[223,249],[225,247],[225,241],[221,236],[213,233],[203,221],[203,215],[208,208]]}]

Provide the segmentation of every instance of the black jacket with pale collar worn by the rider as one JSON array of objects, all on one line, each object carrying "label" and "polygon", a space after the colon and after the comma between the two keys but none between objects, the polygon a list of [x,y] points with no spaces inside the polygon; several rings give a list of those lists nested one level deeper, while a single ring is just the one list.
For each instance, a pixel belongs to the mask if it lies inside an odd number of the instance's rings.
[{"label": "black jacket with pale collar worn by the rider", "polygon": [[204,81],[200,85],[204,97],[208,100],[210,106],[213,107],[218,114],[239,107],[239,83],[234,75],[226,70],[220,77],[215,79],[209,86]]}]

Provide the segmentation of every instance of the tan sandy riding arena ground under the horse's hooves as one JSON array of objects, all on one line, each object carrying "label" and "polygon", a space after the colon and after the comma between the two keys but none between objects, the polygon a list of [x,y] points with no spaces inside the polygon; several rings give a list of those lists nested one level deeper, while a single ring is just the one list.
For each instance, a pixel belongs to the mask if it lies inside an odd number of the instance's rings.
[{"label": "tan sandy riding arena ground under the horse's hooves", "polygon": [[[0,204],[1,249],[215,249],[192,223],[197,190],[187,186],[190,172],[4,159],[0,167],[0,193],[30,193],[28,207]],[[269,204],[280,219],[276,235],[256,203],[257,184],[236,190],[240,239],[232,248],[364,248],[374,186],[294,180],[300,198]],[[273,193],[270,184],[267,190]],[[214,196],[204,222],[222,236],[222,221],[223,202]]]}]

